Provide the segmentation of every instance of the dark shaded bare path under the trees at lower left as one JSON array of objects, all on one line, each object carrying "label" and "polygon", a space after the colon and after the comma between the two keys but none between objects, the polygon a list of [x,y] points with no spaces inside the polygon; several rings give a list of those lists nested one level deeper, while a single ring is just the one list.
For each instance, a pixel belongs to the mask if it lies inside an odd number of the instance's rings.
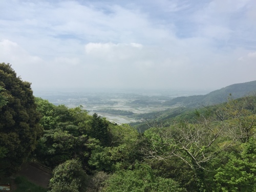
[{"label": "dark shaded bare path under the trees at lower left", "polygon": [[18,175],[26,177],[32,183],[47,188],[51,179],[50,171],[39,164],[24,164]]}]

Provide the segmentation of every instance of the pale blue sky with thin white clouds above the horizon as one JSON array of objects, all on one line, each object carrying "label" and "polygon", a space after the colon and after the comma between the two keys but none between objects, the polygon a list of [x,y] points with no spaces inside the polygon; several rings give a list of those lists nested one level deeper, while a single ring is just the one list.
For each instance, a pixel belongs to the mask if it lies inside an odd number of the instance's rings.
[{"label": "pale blue sky with thin white clouds above the horizon", "polygon": [[256,80],[255,0],[0,2],[0,62],[33,90],[216,90]]}]

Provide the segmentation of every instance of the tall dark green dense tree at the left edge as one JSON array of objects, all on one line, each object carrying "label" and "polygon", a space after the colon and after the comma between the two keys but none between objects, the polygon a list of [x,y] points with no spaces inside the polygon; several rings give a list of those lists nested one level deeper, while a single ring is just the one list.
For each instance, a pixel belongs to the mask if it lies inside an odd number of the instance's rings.
[{"label": "tall dark green dense tree at the left edge", "polygon": [[0,63],[0,86],[8,97],[0,108],[0,173],[4,175],[16,172],[42,133],[30,84],[17,77],[9,63]]}]

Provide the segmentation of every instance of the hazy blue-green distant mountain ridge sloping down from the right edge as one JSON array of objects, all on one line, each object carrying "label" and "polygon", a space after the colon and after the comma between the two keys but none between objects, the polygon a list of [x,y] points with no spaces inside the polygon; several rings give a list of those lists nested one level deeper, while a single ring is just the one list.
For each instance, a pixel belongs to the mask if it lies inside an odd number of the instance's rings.
[{"label": "hazy blue-green distant mountain ridge sloping down from the right edge", "polygon": [[230,86],[212,91],[206,95],[177,97],[170,101],[164,102],[163,105],[182,105],[188,107],[194,107],[198,105],[212,105],[227,101],[227,98],[230,94],[232,95],[233,99],[236,99],[252,92],[256,92],[256,80],[231,84]]}]

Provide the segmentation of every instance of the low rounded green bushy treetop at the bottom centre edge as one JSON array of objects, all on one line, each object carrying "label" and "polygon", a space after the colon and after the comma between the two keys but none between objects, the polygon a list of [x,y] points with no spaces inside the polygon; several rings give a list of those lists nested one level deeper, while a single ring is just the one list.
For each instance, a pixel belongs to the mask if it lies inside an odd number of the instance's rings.
[{"label": "low rounded green bushy treetop at the bottom centre edge", "polygon": [[108,181],[105,192],[131,191],[186,191],[174,180],[156,177],[149,165],[136,164],[135,169],[120,170],[114,173]]}]

